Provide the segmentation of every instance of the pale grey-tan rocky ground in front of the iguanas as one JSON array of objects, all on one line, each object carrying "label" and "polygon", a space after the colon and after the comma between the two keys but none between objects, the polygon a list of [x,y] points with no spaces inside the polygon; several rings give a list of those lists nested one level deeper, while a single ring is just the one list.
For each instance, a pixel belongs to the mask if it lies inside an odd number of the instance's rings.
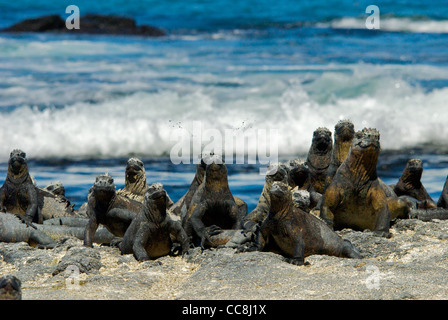
[{"label": "pale grey-tan rocky ground in front of the iguanas", "polygon": [[338,233],[362,259],[313,255],[309,266],[294,266],[271,252],[196,248],[138,262],[118,248],[68,238],[48,250],[0,243],[0,276],[19,278],[24,300],[448,298],[447,220],[398,220],[390,239]]}]

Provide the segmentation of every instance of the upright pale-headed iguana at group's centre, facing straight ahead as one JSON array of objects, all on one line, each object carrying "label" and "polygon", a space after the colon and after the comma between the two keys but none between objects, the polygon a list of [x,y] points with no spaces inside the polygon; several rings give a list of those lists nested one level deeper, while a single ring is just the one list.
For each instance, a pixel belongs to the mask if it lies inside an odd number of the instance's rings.
[{"label": "upright pale-headed iguana at group's centre, facing straight ahead", "polygon": [[240,210],[230,192],[227,167],[220,156],[204,159],[206,174],[204,182],[191,199],[190,208],[183,221],[188,236],[193,243],[204,248],[210,237],[222,229],[239,229],[247,212]]}]

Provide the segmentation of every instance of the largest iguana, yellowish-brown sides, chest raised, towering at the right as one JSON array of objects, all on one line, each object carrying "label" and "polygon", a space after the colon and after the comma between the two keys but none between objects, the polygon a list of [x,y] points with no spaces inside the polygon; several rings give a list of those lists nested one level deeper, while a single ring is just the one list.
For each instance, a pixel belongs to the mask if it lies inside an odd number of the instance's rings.
[{"label": "largest iguana, yellowish-brown sides, chest raised, towering at the right", "polygon": [[378,178],[380,134],[357,131],[349,154],[325,191],[320,217],[335,229],[369,229],[390,237],[390,221],[409,213],[409,203],[398,198]]}]

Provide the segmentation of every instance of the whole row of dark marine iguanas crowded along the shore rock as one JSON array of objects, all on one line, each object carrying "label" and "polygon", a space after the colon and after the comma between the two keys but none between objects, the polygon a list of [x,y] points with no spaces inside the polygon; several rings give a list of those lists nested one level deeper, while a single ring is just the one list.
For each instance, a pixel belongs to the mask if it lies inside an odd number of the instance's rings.
[{"label": "whole row of dark marine iguanas crowded along the shore rock", "polygon": [[[326,254],[362,258],[335,230],[351,228],[390,237],[397,218],[448,218],[448,182],[438,203],[421,183],[422,161],[408,161],[395,185],[377,175],[380,134],[355,131],[348,120],[315,130],[306,159],[271,163],[257,206],[232,195],[227,167],[218,155],[204,155],[186,194],[176,203],[160,183],[148,186],[144,164],[130,158],[125,187],[116,190],[109,174],[96,177],[88,201],[75,210],[60,183],[39,188],[26,154],[13,150],[0,188],[0,241],[25,241],[52,248],[69,236],[117,246],[139,261],[190,248],[271,251],[304,265],[305,257]],[[63,241],[63,240],[62,240]]]}]

